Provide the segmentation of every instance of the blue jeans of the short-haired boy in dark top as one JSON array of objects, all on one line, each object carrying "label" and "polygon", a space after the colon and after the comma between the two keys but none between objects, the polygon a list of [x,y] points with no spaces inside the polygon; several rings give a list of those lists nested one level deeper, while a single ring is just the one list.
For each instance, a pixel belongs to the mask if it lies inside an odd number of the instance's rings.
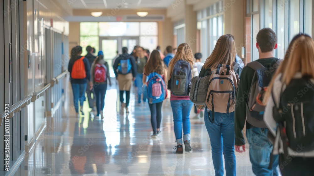
[{"label": "blue jeans of the short-haired boy in dark top", "polygon": [[273,156],[273,168],[268,169],[269,156],[273,144],[268,140],[267,128],[246,129],[246,138],[250,145],[250,161],[253,173],[257,176],[277,176],[278,155]]}]

